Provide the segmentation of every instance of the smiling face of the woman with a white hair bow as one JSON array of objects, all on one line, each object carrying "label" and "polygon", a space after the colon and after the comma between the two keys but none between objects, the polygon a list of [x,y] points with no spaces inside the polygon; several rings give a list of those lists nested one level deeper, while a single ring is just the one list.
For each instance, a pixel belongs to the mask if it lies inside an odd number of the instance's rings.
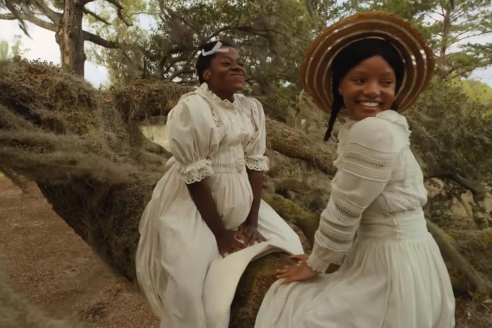
[{"label": "smiling face of the woman with a white hair bow", "polygon": [[244,62],[236,49],[232,47],[221,48],[229,49],[229,51],[215,53],[210,67],[203,71],[203,78],[215,94],[219,96],[232,95],[244,88]]}]

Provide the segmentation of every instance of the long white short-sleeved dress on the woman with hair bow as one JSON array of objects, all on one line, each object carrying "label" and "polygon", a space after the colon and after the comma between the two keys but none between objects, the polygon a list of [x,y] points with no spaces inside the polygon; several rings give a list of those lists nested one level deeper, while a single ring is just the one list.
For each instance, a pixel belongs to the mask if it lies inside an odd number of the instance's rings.
[{"label": "long white short-sleeved dress on the woman with hair bow", "polygon": [[258,231],[268,242],[222,258],[187,184],[206,179],[227,229],[246,219],[253,201],[247,168],[268,169],[261,104],[221,100],[206,83],[168,115],[169,170],[141,217],[137,280],[162,328],[223,328],[237,283],[251,260],[275,250],[302,253],[297,234],[263,201]]}]

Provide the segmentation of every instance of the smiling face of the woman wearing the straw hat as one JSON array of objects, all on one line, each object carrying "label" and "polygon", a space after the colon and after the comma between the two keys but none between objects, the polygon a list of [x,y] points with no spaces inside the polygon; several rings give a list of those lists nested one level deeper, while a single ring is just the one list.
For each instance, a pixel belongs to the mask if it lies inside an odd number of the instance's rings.
[{"label": "smiling face of the woman wearing the straw hat", "polygon": [[338,86],[348,116],[357,121],[388,110],[395,99],[395,90],[395,71],[381,56],[361,61]]}]

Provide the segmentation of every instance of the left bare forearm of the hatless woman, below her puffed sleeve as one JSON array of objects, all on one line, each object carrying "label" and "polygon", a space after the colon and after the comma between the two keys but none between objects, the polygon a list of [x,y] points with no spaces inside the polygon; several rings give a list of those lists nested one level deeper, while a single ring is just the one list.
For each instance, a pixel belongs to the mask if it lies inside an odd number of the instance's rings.
[{"label": "left bare forearm of the hatless woman, below her puffed sleeve", "polygon": [[215,206],[210,187],[205,181],[199,181],[188,185],[193,202],[195,202],[198,212],[200,212],[203,221],[210,228],[215,237],[226,232],[226,228],[220,220],[219,213]]}]

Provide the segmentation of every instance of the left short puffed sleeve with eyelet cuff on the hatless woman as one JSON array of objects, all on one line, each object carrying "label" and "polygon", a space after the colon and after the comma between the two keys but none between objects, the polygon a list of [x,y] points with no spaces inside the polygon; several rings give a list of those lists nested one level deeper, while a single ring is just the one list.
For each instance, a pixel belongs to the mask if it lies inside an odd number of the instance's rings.
[{"label": "left short puffed sleeve with eyelet cuff on the hatless woman", "polygon": [[212,158],[219,141],[209,104],[198,95],[182,98],[168,116],[171,153],[186,184],[214,174]]}]

